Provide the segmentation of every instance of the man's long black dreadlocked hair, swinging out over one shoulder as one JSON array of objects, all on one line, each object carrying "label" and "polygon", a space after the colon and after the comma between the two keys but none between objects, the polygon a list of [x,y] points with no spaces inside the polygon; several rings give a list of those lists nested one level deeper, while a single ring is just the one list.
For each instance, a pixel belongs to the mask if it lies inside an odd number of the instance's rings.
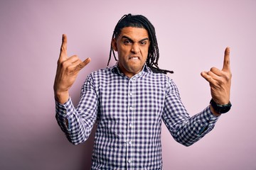
[{"label": "man's long black dreadlocked hair, swinging out over one shoulder", "polygon": [[[132,15],[131,13],[122,16],[122,18],[118,21],[117,26],[114,28],[114,33],[112,35],[112,39],[117,38],[122,31],[122,28],[126,27],[134,27],[134,28],[144,28],[147,30],[149,34],[149,52],[146,58],[146,65],[152,70],[152,72],[156,73],[174,73],[173,71],[169,71],[166,69],[159,69],[158,61],[159,61],[159,47],[156,40],[156,32],[154,26],[150,23],[150,21],[142,16],[142,15]],[[114,54],[114,49],[112,45],[110,45],[110,58],[107,62],[107,66],[110,64],[112,53],[114,55],[114,60],[117,60],[117,57]]]}]

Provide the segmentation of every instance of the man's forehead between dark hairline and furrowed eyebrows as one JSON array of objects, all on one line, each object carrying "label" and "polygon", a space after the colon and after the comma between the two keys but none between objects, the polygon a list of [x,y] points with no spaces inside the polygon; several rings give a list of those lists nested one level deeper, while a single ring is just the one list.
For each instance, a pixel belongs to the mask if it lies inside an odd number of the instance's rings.
[{"label": "man's forehead between dark hairline and furrowed eyebrows", "polygon": [[123,37],[131,38],[132,40],[142,40],[144,38],[149,38],[149,34],[145,28],[134,28],[134,27],[124,27],[119,34],[119,38]]}]

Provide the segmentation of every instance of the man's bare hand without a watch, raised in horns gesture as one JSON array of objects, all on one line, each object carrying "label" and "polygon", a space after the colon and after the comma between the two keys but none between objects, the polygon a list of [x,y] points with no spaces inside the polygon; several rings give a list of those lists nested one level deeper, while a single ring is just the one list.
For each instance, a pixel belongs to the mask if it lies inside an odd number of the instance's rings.
[{"label": "man's bare hand without a watch, raised in horns gesture", "polygon": [[78,72],[90,62],[87,58],[82,62],[78,56],[68,57],[67,36],[63,34],[63,40],[60,48],[60,57],[58,59],[57,72],[54,81],[55,100],[63,104],[68,101],[68,90],[78,77]]}]

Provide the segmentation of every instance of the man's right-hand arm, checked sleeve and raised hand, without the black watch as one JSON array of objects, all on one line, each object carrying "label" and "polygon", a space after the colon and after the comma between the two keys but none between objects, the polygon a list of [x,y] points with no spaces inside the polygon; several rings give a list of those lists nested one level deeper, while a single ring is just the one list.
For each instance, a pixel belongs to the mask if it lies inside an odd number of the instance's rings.
[{"label": "man's right-hand arm, checked sleeve and raised hand, without the black watch", "polygon": [[[229,47],[225,49],[223,69],[213,67],[209,72],[202,72],[201,75],[210,84],[213,100],[220,105],[229,103],[231,84]],[[190,118],[181,103],[178,89],[175,84],[170,84],[166,95],[163,120],[174,139],[189,146],[213,130],[220,113],[214,111],[212,106],[208,106],[201,113]]]}]

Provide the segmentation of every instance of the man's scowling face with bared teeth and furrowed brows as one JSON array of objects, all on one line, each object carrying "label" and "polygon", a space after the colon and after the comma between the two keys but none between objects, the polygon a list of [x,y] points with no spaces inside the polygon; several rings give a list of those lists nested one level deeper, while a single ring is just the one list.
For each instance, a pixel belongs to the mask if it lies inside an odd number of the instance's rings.
[{"label": "man's scowling face with bared teeth and furrowed brows", "polygon": [[112,47],[118,53],[118,66],[127,77],[142,70],[149,52],[149,34],[144,28],[122,28]]}]

